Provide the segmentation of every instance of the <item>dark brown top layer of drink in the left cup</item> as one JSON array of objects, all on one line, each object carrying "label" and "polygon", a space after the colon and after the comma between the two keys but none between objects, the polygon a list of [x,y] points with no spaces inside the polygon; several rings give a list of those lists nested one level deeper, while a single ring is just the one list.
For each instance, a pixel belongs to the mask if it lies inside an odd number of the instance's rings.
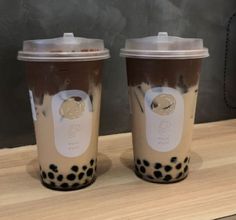
[{"label": "dark brown top layer of drink in the left cup", "polygon": [[89,93],[91,83],[101,81],[103,61],[84,62],[26,62],[29,88],[36,104],[42,104],[44,94],[54,95],[62,90],[79,89]]}]

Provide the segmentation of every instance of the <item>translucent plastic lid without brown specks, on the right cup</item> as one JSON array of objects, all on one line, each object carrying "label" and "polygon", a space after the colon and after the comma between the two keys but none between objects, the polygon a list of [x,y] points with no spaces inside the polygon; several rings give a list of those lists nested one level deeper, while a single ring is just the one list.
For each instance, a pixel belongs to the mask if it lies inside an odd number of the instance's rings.
[{"label": "translucent plastic lid without brown specks, on the right cup", "polygon": [[198,38],[180,38],[159,32],[157,36],[128,39],[121,56],[151,59],[194,59],[208,57],[208,49]]}]

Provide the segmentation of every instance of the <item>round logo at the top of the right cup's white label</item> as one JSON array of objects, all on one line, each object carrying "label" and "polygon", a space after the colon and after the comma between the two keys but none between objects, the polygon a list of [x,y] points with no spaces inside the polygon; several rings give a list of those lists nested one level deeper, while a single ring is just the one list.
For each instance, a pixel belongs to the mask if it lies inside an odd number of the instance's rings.
[{"label": "round logo at the top of the right cup's white label", "polygon": [[175,98],[170,94],[161,94],[156,96],[151,104],[153,112],[159,115],[169,115],[175,109]]}]

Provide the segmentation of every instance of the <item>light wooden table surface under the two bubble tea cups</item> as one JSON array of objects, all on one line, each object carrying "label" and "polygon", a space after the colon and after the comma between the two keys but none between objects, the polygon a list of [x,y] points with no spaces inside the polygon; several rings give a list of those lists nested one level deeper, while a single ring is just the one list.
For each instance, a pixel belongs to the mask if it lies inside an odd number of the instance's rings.
[{"label": "light wooden table surface under the two bubble tea cups", "polygon": [[72,192],[41,185],[35,146],[0,150],[0,219],[202,220],[236,214],[236,120],[196,125],[193,139],[189,177],[160,185],[133,174],[130,133],[100,137],[97,181]]}]

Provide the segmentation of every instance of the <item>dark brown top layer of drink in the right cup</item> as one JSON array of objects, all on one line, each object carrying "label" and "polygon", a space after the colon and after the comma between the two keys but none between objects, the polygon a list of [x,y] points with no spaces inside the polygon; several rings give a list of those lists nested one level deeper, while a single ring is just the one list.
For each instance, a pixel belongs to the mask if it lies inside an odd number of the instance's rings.
[{"label": "dark brown top layer of drink in the right cup", "polygon": [[180,87],[183,93],[198,83],[202,59],[159,60],[127,58],[129,86]]}]

